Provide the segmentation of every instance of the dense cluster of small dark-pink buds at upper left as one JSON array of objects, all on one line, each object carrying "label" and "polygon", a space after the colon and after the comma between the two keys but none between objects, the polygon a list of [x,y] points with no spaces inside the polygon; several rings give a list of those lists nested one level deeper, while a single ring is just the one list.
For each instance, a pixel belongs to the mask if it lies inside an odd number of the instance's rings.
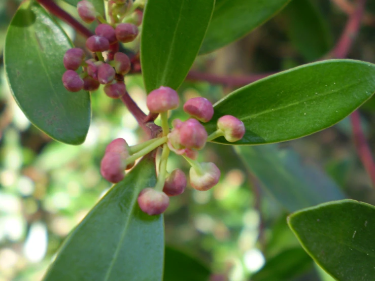
[{"label": "dense cluster of small dark-pink buds at upper left", "polygon": [[[107,5],[110,22],[95,11],[91,2],[83,0],[77,4],[83,21],[92,23],[97,19],[101,23],[95,28],[95,35],[86,40],[86,48],[94,58],[86,60],[80,48],[69,49],[64,55],[66,72],[62,83],[68,91],[94,91],[102,84],[109,97],[119,98],[125,94],[123,76],[130,71],[131,64],[126,54],[118,52],[118,44],[131,42],[138,36],[137,24],[141,24],[142,16],[135,9],[144,4],[142,1],[110,0]],[[107,60],[103,52],[108,52]]]}]

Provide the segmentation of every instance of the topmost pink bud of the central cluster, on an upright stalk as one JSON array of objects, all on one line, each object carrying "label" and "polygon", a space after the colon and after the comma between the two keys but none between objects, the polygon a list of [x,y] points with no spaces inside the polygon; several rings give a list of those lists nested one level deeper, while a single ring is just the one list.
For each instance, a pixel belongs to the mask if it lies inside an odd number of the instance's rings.
[{"label": "topmost pink bud of the central cluster, on an upright stalk", "polygon": [[179,95],[174,89],[161,86],[147,96],[147,107],[151,113],[161,113],[177,109],[180,104]]}]

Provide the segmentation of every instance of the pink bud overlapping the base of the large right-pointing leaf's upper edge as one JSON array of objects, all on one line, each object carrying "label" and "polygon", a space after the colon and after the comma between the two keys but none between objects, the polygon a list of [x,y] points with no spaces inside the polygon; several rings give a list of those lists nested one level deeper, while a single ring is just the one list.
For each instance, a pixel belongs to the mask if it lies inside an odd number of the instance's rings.
[{"label": "pink bud overlapping the base of the large right-pointing leaf's upper edge", "polygon": [[214,115],[212,103],[204,97],[194,97],[186,101],[184,111],[201,122],[209,122]]}]

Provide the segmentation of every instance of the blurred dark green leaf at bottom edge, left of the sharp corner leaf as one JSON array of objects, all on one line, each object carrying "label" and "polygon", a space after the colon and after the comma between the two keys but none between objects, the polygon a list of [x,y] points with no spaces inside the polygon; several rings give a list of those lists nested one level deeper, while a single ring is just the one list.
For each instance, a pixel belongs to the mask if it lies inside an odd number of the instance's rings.
[{"label": "blurred dark green leaf at bottom edge, left of the sharp corner leaf", "polygon": [[313,260],[301,248],[281,252],[269,259],[253,276],[252,281],[293,280],[313,267]]}]

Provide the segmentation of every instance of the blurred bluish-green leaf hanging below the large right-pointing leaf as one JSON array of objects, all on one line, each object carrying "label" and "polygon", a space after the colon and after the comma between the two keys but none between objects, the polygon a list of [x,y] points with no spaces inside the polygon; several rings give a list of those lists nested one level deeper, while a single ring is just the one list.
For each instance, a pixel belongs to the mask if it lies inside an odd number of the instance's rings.
[{"label": "blurred bluish-green leaf hanging below the large right-pointing leaf", "polygon": [[238,146],[235,151],[261,186],[289,212],[345,199],[334,181],[323,171],[303,163],[292,150],[265,145]]}]

